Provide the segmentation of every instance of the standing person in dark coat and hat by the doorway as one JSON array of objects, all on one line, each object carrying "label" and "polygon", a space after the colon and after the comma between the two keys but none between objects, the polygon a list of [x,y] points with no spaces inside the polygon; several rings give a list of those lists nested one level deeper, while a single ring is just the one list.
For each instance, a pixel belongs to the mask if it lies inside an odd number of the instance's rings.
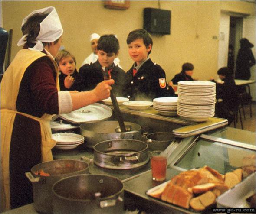
[{"label": "standing person in dark coat and hat by the doorway", "polygon": [[251,77],[250,68],[255,65],[255,58],[251,48],[253,44],[248,39],[240,39],[240,49],[236,57],[236,79],[249,80]]}]

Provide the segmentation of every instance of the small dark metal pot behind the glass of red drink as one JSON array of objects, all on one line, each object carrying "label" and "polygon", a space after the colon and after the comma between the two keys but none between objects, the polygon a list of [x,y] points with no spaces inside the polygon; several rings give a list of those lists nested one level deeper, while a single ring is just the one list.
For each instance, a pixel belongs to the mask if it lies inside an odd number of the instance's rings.
[{"label": "small dark metal pot behind the glass of red drink", "polygon": [[149,151],[164,151],[174,140],[173,134],[169,132],[144,133],[142,137],[148,144]]}]

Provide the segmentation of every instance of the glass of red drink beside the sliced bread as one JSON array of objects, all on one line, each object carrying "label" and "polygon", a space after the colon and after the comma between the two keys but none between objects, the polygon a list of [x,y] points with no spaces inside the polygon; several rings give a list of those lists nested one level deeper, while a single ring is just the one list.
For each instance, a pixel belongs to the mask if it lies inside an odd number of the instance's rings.
[{"label": "glass of red drink beside the sliced bread", "polygon": [[164,181],[166,178],[167,156],[152,152],[151,155],[151,170],[152,179],[154,181]]}]

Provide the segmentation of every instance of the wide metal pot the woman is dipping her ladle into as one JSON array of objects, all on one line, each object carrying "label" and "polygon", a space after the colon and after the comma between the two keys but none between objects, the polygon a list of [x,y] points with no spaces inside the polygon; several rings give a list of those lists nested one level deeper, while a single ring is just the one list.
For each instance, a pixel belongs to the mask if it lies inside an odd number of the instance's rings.
[{"label": "wide metal pot the woman is dipping her ladle into", "polygon": [[103,121],[80,125],[80,132],[85,137],[84,145],[93,148],[97,143],[109,139],[138,139],[141,140],[141,126],[136,123],[124,122],[130,126],[127,132],[117,132],[118,121]]}]

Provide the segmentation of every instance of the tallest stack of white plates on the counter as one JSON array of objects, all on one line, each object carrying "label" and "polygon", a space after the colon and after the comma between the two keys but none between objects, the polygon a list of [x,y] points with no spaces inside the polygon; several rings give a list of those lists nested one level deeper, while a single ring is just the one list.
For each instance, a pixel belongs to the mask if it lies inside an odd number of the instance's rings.
[{"label": "tallest stack of white plates on the counter", "polygon": [[214,116],[216,84],[211,81],[178,82],[177,114],[185,120],[202,122]]}]

